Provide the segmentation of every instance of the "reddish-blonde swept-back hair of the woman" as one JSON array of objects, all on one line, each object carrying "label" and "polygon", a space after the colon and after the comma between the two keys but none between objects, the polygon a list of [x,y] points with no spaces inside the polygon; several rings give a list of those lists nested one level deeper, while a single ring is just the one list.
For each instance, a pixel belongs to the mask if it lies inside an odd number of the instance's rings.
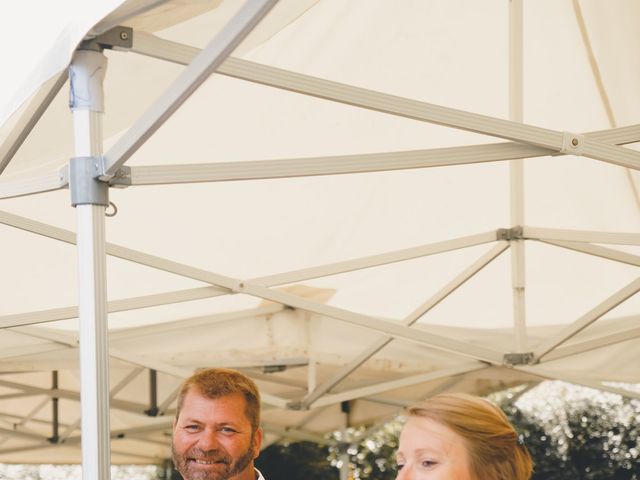
[{"label": "reddish-blonde swept-back hair of the woman", "polygon": [[507,416],[480,397],[460,393],[436,395],[409,409],[464,439],[471,473],[478,480],[528,480],[533,462]]}]

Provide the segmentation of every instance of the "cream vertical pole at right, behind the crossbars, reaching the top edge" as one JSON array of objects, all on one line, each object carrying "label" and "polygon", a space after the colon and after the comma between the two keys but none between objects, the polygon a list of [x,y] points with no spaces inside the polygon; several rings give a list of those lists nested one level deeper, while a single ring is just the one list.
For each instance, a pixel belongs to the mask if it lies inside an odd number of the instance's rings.
[{"label": "cream vertical pole at right, behind the crossbars, reaching the top edge", "polygon": [[[509,0],[509,120],[522,122],[522,0]],[[524,165],[510,162],[511,227],[524,226]],[[511,240],[511,286],[515,351],[527,351],[525,316],[525,250],[522,238]]]}]

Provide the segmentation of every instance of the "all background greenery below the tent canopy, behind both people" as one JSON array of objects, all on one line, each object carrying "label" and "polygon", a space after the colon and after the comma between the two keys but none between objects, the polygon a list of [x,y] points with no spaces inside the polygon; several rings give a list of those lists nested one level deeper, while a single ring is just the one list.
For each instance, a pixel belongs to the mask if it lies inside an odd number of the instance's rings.
[{"label": "all background greenery below the tent canopy, behind both people", "polygon": [[[640,401],[562,382],[489,397],[501,405],[526,439],[534,458],[534,480],[640,480]],[[379,428],[335,432],[337,446],[309,442],[266,448],[257,466],[267,480],[338,480],[348,455],[354,480],[393,480],[394,453],[402,418]],[[77,465],[2,465],[0,479],[80,480]],[[121,466],[112,480],[179,479],[155,466]]]}]

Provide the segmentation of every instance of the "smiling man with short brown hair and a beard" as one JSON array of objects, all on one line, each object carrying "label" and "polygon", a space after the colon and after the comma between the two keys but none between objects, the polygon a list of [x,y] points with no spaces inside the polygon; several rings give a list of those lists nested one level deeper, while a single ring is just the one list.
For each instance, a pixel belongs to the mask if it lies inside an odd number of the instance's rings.
[{"label": "smiling man with short brown hair and a beard", "polygon": [[264,480],[260,393],[247,376],[225,368],[199,370],[178,393],[173,463],[185,480]]}]

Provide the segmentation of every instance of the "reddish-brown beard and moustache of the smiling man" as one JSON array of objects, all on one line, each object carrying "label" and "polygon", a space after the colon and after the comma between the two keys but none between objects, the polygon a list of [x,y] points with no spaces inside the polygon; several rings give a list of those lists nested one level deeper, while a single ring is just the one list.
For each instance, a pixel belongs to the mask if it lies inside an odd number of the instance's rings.
[{"label": "reddish-brown beard and moustache of the smiling man", "polygon": [[[180,455],[176,452],[173,443],[171,445],[171,453],[173,456],[173,464],[176,469],[184,477],[184,480],[229,480],[238,473],[242,472],[253,460],[253,435],[247,451],[235,461],[224,450],[204,451],[199,448],[192,448]],[[217,469],[199,468],[195,462],[189,459],[197,458],[198,460],[213,461],[217,463]]]}]

